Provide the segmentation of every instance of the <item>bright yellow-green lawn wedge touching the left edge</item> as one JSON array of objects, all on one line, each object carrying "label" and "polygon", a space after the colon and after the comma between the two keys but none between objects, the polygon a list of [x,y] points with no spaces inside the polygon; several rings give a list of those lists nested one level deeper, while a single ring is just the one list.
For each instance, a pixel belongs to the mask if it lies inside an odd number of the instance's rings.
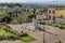
[{"label": "bright yellow-green lawn wedge touching the left edge", "polygon": [[8,39],[10,37],[16,38],[15,34],[5,31],[3,28],[0,28],[0,39],[3,39],[4,40],[4,39]]}]

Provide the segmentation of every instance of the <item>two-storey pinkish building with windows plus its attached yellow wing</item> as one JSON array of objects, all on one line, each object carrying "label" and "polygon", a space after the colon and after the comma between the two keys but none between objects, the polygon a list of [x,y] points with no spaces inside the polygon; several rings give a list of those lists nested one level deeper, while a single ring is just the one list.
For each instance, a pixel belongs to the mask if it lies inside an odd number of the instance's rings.
[{"label": "two-storey pinkish building with windows plus its attached yellow wing", "polygon": [[65,18],[65,8],[48,8],[46,17],[49,19]]}]

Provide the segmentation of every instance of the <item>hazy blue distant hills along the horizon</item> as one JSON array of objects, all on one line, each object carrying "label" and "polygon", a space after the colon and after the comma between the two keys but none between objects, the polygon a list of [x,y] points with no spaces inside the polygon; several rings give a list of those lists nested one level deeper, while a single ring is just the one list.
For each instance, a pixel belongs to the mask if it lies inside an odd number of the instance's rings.
[{"label": "hazy blue distant hills along the horizon", "polygon": [[42,8],[55,8],[55,6],[63,6],[65,8],[65,1],[46,1],[46,2],[25,2],[25,3],[17,3],[17,4],[14,4],[14,3],[2,3],[0,2],[0,4],[3,4],[3,5],[24,5],[24,6],[42,6]]}]

